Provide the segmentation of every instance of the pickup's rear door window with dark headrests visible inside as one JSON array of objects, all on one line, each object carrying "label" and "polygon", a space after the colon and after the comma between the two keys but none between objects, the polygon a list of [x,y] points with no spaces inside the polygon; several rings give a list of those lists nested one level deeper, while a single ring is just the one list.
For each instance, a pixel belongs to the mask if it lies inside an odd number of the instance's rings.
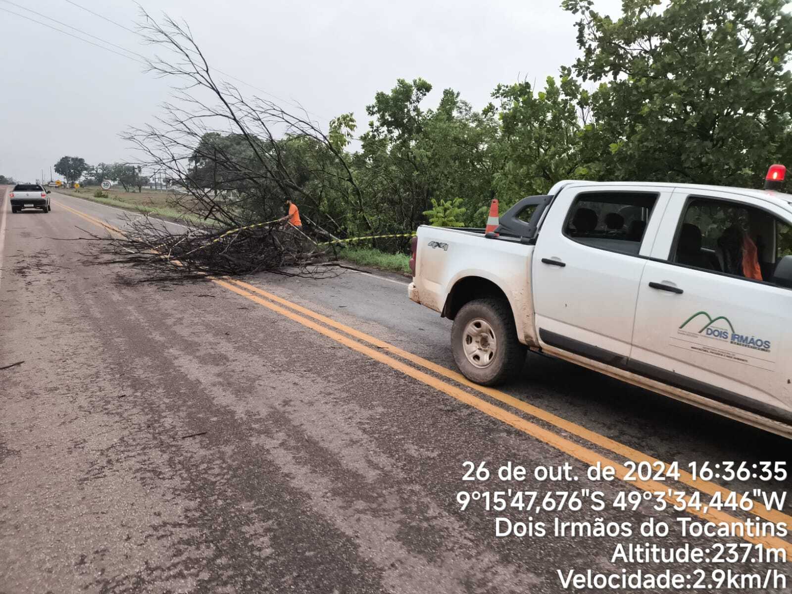
[{"label": "pickup's rear door window with dark headrests visible inside", "polygon": [[569,208],[564,234],[593,248],[638,255],[656,202],[649,192],[584,192]]}]

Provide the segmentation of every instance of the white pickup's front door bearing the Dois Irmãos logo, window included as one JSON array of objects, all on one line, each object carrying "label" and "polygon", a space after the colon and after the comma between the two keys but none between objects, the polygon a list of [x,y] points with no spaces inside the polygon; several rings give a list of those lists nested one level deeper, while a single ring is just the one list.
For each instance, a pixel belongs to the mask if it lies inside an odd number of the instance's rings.
[{"label": "white pickup's front door bearing the Dois Irm\u00e3os logo, window included", "polygon": [[632,371],[792,418],[792,290],[771,282],[790,254],[790,213],[733,192],[677,190],[638,293]]}]

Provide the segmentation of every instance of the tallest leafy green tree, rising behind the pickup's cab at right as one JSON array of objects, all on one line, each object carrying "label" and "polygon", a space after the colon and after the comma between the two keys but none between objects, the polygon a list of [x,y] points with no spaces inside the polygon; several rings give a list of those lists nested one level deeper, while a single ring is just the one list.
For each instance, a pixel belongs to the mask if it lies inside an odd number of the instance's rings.
[{"label": "tallest leafy green tree, rising behind the pickup's cab at right", "polygon": [[616,179],[755,186],[788,161],[792,16],[783,0],[623,0],[617,20],[592,0],[575,63],[592,93],[592,169]]}]

